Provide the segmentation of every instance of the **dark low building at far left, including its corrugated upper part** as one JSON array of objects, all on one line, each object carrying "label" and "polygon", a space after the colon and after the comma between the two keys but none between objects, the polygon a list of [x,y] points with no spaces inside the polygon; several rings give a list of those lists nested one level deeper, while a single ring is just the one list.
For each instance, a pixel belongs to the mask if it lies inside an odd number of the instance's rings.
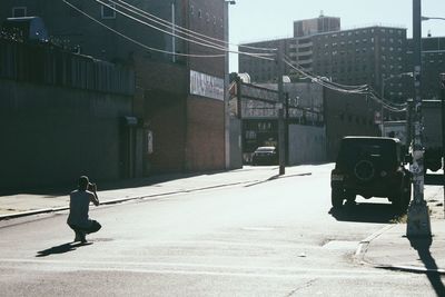
[{"label": "dark low building at far left, including its corrugated upper part", "polygon": [[0,192],[131,175],[132,70],[4,38],[0,61]]}]

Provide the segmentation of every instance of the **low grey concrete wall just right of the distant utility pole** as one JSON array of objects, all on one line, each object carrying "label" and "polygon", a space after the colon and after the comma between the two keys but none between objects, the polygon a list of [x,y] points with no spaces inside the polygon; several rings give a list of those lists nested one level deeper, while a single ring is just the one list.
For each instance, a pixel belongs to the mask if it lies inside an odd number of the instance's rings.
[{"label": "low grey concrete wall just right of the distant utility pole", "polygon": [[326,161],[324,127],[289,125],[289,165]]}]

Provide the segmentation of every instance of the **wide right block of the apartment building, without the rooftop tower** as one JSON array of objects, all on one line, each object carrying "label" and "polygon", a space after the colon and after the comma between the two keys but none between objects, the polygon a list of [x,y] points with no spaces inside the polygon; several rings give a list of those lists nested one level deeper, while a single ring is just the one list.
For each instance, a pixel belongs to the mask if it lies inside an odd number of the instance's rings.
[{"label": "wide right block of the apartment building, without the rooftop tower", "polygon": [[[313,37],[314,73],[343,85],[369,85],[377,93],[392,86],[392,100],[408,96],[397,75],[406,71],[406,29],[367,27]],[[397,85],[394,85],[397,82]]]}]

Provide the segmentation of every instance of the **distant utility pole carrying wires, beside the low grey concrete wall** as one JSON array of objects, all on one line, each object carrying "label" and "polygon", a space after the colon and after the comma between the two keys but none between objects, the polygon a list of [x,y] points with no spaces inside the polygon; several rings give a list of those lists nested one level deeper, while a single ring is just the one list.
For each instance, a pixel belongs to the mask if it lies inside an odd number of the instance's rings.
[{"label": "distant utility pole carrying wires, beside the low grey concrete wall", "polygon": [[283,92],[283,75],[284,75],[284,43],[279,43],[277,63],[278,63],[278,158],[279,158],[279,175],[286,172],[286,141],[285,141],[285,96]]}]

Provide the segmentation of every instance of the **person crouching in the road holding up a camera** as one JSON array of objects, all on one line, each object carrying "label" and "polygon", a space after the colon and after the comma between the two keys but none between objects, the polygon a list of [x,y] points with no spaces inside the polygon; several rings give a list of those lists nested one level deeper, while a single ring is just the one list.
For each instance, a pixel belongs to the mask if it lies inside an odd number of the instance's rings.
[{"label": "person crouching in the road holding up a camera", "polygon": [[76,232],[75,241],[87,242],[86,235],[97,232],[102,226],[88,216],[90,202],[99,205],[96,184],[90,184],[88,177],[79,178],[79,187],[70,194],[70,212],[67,224]]}]

